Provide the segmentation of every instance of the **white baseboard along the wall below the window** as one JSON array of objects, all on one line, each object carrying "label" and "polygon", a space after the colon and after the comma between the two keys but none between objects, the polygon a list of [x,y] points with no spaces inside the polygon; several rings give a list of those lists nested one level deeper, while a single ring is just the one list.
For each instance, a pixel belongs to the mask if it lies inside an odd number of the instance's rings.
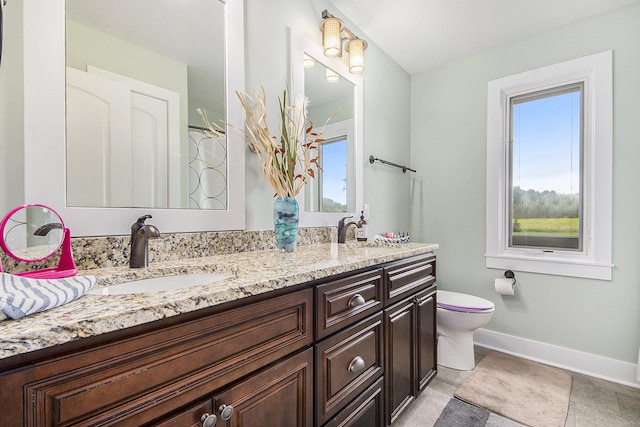
[{"label": "white baseboard along the wall below the window", "polygon": [[479,329],[474,344],[607,381],[640,388],[637,365],[569,348]]}]

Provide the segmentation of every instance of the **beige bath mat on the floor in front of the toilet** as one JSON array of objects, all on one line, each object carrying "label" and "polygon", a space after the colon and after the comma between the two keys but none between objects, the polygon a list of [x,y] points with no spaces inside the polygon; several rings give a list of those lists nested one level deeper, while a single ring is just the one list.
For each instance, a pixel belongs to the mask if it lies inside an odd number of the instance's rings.
[{"label": "beige bath mat on the floor in front of the toilet", "polygon": [[564,426],[571,374],[504,353],[488,353],[455,397],[529,426]]}]

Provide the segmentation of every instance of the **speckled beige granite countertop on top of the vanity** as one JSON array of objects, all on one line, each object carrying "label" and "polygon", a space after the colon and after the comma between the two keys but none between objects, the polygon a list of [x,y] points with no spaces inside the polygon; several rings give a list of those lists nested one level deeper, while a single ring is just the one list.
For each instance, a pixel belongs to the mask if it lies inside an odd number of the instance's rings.
[{"label": "speckled beige granite countertop on top of the vanity", "polygon": [[96,288],[148,277],[185,273],[232,273],[210,285],[171,291],[89,295],[19,320],[0,322],[0,359],[215,306],[251,295],[346,273],[413,255],[436,244],[359,245],[324,243],[275,250],[152,263],[148,268],[79,271],[98,277]]}]

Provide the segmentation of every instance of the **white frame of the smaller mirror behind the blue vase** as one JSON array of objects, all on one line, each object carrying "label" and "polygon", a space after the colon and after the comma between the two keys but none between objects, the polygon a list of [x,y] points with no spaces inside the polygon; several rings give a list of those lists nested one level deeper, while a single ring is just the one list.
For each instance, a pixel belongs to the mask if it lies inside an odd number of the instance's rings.
[{"label": "white frame of the smaller mirror behind the blue vase", "polygon": [[[362,76],[349,73],[349,67],[339,58],[327,58],[322,52],[322,47],[318,43],[314,43],[310,39],[299,34],[295,30],[290,30],[291,43],[291,87],[294,94],[304,93],[305,90],[305,68],[303,64],[304,55],[307,54],[317,63],[324,67],[330,68],[338,75],[353,85],[353,167],[355,178],[355,211],[354,212],[307,212],[305,210],[304,191],[298,195],[298,204],[300,205],[300,226],[317,227],[317,226],[336,226],[341,218],[353,216],[354,221],[360,218],[360,211],[363,209],[363,81]],[[310,100],[313,102],[313,100]],[[331,124],[331,121],[329,122]]]}]

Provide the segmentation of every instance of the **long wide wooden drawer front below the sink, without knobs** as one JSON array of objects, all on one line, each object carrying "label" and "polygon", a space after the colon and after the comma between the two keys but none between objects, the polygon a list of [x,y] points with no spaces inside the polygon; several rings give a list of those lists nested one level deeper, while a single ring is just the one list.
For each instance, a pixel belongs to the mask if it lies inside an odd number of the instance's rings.
[{"label": "long wide wooden drawer front below the sink, without knobs", "polygon": [[311,344],[312,301],[297,291],[49,362],[24,387],[25,425],[139,426],[173,412]]}]

